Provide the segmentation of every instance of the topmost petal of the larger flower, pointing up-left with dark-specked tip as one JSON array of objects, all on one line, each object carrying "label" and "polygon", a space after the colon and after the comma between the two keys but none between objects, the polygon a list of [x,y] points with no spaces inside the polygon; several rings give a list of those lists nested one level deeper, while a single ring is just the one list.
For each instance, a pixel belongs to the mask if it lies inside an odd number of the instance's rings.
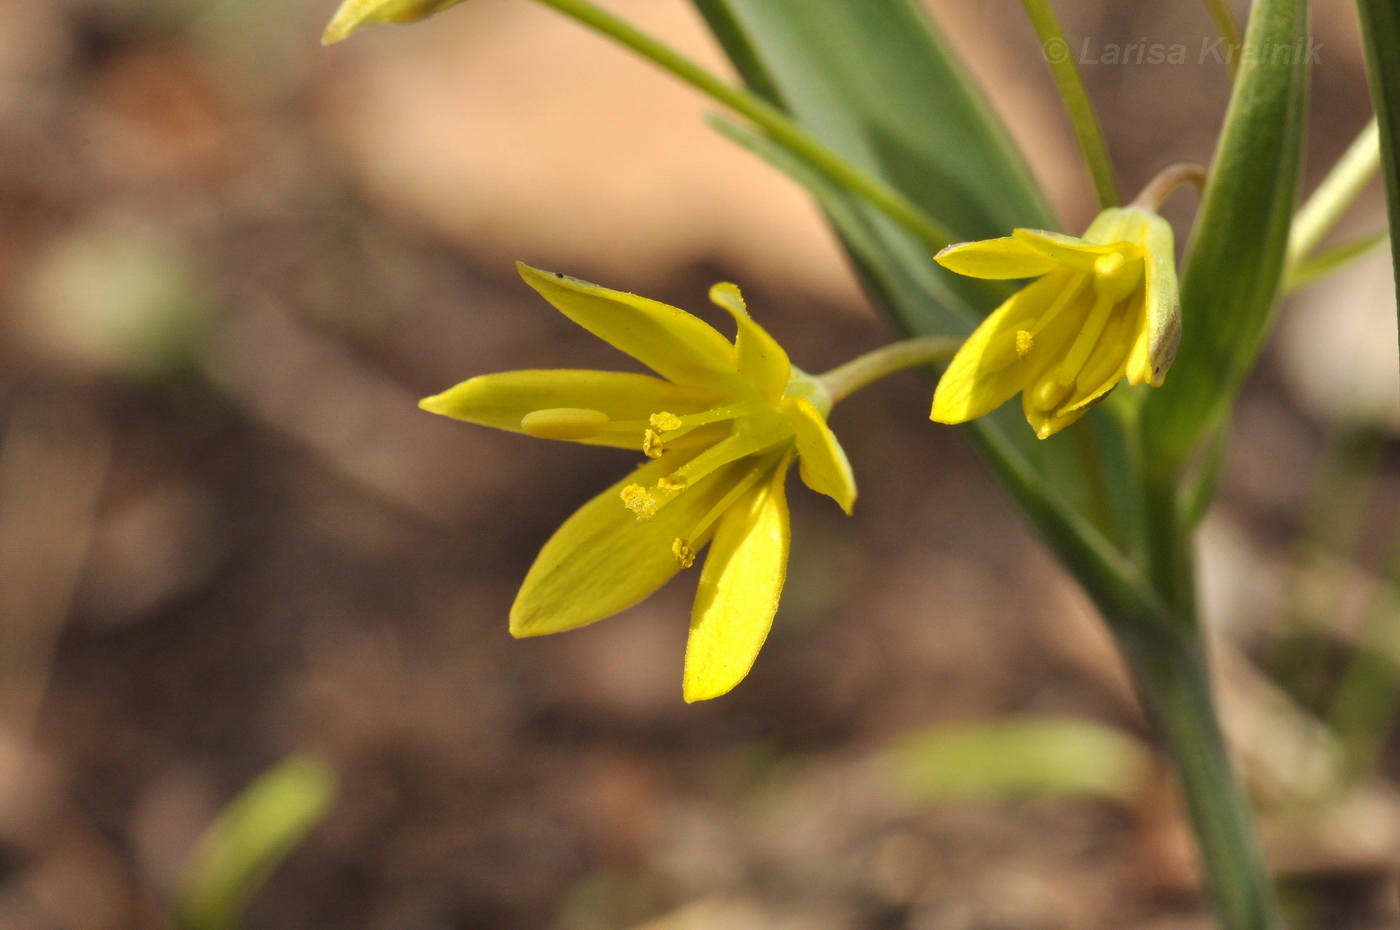
[{"label": "topmost petal of the larger flower, pointing up-left with dark-specked tip", "polygon": [[689,385],[741,384],[734,346],[699,317],[519,262],[515,268],[561,314],[664,378]]}]

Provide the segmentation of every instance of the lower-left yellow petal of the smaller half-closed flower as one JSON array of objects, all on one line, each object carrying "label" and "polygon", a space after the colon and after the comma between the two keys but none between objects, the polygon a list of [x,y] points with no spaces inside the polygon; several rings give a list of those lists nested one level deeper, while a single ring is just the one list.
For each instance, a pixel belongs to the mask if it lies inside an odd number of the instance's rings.
[{"label": "lower-left yellow petal of the smaller half-closed flower", "polygon": [[[993,311],[967,338],[939,378],[930,419],[938,423],[966,423],[995,410],[1025,389],[1051,360],[1072,326],[1065,329],[1063,322],[1057,322],[1051,332],[1036,335],[1025,361],[1005,363],[998,359],[998,354],[1004,354],[998,347],[1014,340],[1019,329],[1035,324],[1072,280],[1074,272],[1068,269],[1046,275]],[[1070,307],[1060,312],[1057,321],[1072,322],[1079,314],[1078,307]]]}]

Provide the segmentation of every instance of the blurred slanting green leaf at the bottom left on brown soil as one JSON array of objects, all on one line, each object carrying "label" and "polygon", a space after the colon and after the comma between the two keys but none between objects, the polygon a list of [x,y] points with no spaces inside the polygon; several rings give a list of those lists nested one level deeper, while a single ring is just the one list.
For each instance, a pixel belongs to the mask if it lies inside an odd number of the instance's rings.
[{"label": "blurred slanting green leaf at the bottom left on brown soil", "polygon": [[231,930],[272,873],[305,839],[336,797],[335,770],[288,756],[224,808],[190,854],[176,895],[183,930]]}]

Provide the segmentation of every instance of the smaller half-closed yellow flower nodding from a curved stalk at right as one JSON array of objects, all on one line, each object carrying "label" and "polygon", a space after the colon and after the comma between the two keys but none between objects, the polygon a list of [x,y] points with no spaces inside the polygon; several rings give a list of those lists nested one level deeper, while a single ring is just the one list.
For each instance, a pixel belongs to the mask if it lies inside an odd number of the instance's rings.
[{"label": "smaller half-closed yellow flower nodding from a curved stalk at right", "polygon": [[931,419],[965,423],[1021,394],[1046,438],[1084,416],[1126,377],[1161,387],[1182,336],[1172,227],[1141,207],[1098,216],[1082,240],[1015,230],[949,245],[959,275],[1037,277],[998,307],[948,366]]}]

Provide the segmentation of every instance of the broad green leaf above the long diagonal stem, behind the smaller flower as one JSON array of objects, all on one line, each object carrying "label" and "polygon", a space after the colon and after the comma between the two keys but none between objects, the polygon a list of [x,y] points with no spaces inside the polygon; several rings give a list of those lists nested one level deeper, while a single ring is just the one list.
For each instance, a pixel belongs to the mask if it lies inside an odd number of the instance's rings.
[{"label": "broad green leaf above the long diagonal stem, behind the smaller flower", "polygon": [[958,235],[1058,228],[995,113],[913,0],[696,6],[755,92]]}]

